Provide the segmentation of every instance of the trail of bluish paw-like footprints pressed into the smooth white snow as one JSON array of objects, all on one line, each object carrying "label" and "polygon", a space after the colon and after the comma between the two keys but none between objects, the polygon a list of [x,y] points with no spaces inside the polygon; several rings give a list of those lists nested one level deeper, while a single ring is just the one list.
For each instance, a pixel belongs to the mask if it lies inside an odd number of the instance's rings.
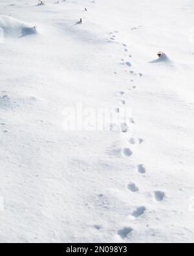
[{"label": "trail of bluish paw-like footprints pressed into the smooth white snow", "polygon": [[[110,40],[115,41],[116,40],[116,34],[118,34],[118,31],[114,31],[109,33],[110,34]],[[127,55],[126,53],[128,52],[128,48],[127,45],[125,43],[122,43],[122,47],[123,51],[125,52],[125,58],[127,57],[128,59],[131,58],[131,55]],[[129,62],[129,60],[125,60],[124,58],[121,59],[121,65],[124,65],[125,67],[125,72],[129,73],[129,75],[133,75],[134,77],[142,77],[143,74],[142,73],[135,73],[135,71],[133,71],[131,69],[132,64],[131,62]],[[115,74],[117,74],[117,72],[115,72]],[[131,79],[131,82],[134,82],[133,79]],[[135,89],[136,86],[133,86],[132,89]],[[125,99],[125,91],[117,91],[116,92],[116,96],[118,97],[118,103],[123,107],[126,104],[126,99]],[[119,113],[120,112],[120,108],[115,108],[115,112]],[[142,138],[135,138],[135,137],[131,137],[129,138],[129,125],[133,125],[135,124],[135,121],[132,117],[129,117],[129,119],[125,122],[120,123],[120,132],[122,134],[126,135],[126,141],[128,145],[134,146],[134,145],[141,145],[142,143],[144,143],[144,139]],[[133,157],[133,150],[131,150],[131,146],[125,146],[122,149],[122,156],[125,158],[130,158]],[[144,164],[138,164],[136,165],[136,173],[137,175],[142,175],[143,177],[146,178],[146,167],[144,166]],[[131,193],[138,193],[140,192],[140,188],[133,182],[128,183],[127,184],[127,190]],[[166,197],[165,192],[162,191],[155,191],[153,192],[153,201],[154,202],[162,202],[164,201]],[[136,207],[136,209],[134,209],[134,211],[131,213],[131,216],[135,219],[138,219],[142,216],[145,215],[147,209],[144,205],[139,205],[138,207]],[[127,239],[131,236],[131,233],[133,233],[133,228],[132,227],[123,227],[122,229],[118,230],[117,235],[121,238],[121,239]]]}]

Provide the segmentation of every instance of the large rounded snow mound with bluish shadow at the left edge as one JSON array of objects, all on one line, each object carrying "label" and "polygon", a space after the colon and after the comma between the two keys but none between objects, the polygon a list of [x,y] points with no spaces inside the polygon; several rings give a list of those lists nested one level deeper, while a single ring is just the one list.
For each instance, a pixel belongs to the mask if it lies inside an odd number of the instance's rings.
[{"label": "large rounded snow mound with bluish shadow at the left edge", "polygon": [[0,16],[0,30],[6,37],[17,37],[28,36],[30,34],[36,34],[36,27],[28,25],[23,21],[14,19],[9,16]]}]

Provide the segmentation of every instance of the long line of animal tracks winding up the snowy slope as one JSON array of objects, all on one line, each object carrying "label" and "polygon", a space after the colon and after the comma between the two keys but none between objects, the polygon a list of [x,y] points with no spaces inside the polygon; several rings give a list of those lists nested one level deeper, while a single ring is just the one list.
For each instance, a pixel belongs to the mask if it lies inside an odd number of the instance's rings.
[{"label": "long line of animal tracks winding up the snowy slope", "polygon": [[[138,28],[135,28],[138,29]],[[116,41],[117,36],[119,32],[114,31],[109,33],[109,40]],[[117,41],[118,42],[118,41]],[[121,58],[121,65],[124,67],[125,73],[129,74],[131,76],[130,82],[132,86],[129,88],[129,92],[134,89],[138,89],[137,86],[134,86],[133,83],[135,82],[135,78],[142,78],[142,73],[136,73],[133,70],[133,64],[131,63],[132,55],[129,54],[128,46],[125,43],[119,43],[120,47],[122,47],[122,52],[124,52],[124,57]],[[115,75],[117,72],[114,73]],[[119,88],[121,89],[121,88]],[[118,106],[116,106],[115,111],[116,113],[120,113],[120,107],[125,108],[127,105],[127,93],[125,91],[116,91],[115,93],[116,97],[118,98]],[[144,139],[142,137],[134,137],[133,136],[133,129],[135,126],[135,119],[133,117],[133,113],[131,116],[126,117],[124,122],[120,123],[120,138],[125,140],[125,146],[122,147],[121,155],[124,158],[125,162],[131,161],[133,167],[135,168],[135,180],[124,184],[126,187],[126,192],[131,194],[136,194],[136,197],[138,197],[139,193],[141,192],[141,187],[138,185],[139,176],[143,176],[145,183],[146,183],[146,172],[147,169],[144,165],[144,163],[137,163],[135,160],[135,154],[133,151],[133,148],[140,147],[142,143],[144,143]],[[127,146],[126,146],[127,145]],[[130,177],[129,177],[130,180]],[[144,191],[145,192],[145,191]],[[158,202],[162,202],[166,194],[163,191],[147,191],[151,193],[151,196],[153,198],[153,204],[156,204]],[[146,198],[145,198],[146,202]],[[130,237],[133,235],[133,225],[131,226],[131,222],[133,223],[134,220],[138,220],[139,218],[144,218],[144,215],[146,215],[146,212],[149,211],[147,209],[146,205],[136,205],[136,208],[133,209],[131,213],[129,213],[129,219],[126,220],[126,224],[124,227],[121,227],[121,229],[118,230],[117,235],[120,237],[120,239],[130,239]]]}]

